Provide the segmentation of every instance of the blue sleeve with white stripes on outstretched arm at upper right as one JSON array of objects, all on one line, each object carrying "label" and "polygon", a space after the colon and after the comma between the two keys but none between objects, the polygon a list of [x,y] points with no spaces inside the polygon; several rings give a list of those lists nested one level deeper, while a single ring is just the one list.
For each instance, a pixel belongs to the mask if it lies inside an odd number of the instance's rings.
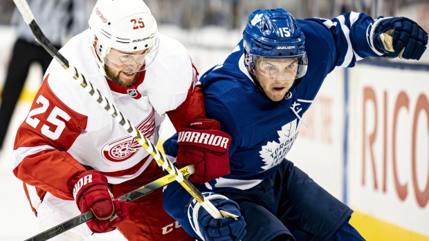
[{"label": "blue sleeve with white stripes on outstretched arm at upper right", "polygon": [[[332,52],[334,52],[334,64],[341,67],[353,67],[356,61],[365,57],[378,57],[376,50],[371,46],[368,33],[374,23],[372,17],[362,12],[347,12],[334,19],[311,18],[298,21],[307,23],[319,32],[320,37],[327,41],[333,41]],[[321,30],[320,26],[326,30]],[[306,28],[306,27],[304,27]],[[311,42],[307,41],[306,46]]]}]

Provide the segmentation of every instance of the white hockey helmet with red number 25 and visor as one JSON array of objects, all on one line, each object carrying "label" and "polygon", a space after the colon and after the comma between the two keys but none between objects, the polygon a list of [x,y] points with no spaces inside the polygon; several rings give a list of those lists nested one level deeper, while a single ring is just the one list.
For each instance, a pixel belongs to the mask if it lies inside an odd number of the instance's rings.
[{"label": "white hockey helmet with red number 25 and visor", "polygon": [[158,53],[158,28],[142,0],[98,0],[88,23],[94,39],[98,39],[95,55],[104,75],[104,65],[135,73],[147,69],[154,61]]}]

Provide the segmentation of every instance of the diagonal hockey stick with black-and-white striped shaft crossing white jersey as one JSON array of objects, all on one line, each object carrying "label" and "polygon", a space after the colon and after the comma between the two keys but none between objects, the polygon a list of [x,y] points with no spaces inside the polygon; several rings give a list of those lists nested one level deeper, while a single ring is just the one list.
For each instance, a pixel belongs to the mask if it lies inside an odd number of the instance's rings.
[{"label": "diagonal hockey stick with black-and-white striped shaft crossing white jersey", "polygon": [[100,93],[100,91],[95,88],[91,81],[87,81],[85,77],[77,72],[77,69],[72,66],[69,61],[58,52],[58,50],[51,44],[49,39],[47,39],[42,32],[42,30],[37,25],[33,13],[30,10],[30,7],[28,6],[28,3],[26,0],[13,0],[15,2],[15,5],[17,6],[19,12],[21,12],[22,17],[24,17],[24,21],[30,26],[31,31],[33,32],[33,35],[39,41],[39,44],[43,46],[43,48],[54,58],[56,59],[65,70],[75,79],[75,82],[77,84],[80,84],[84,90],[86,90],[89,95],[95,99],[95,101],[104,108],[104,110],[107,110],[107,112],[113,117],[113,119],[116,120],[124,128],[131,137],[134,137],[136,141],[145,148],[145,150],[154,157],[154,160],[158,162],[161,166],[163,166],[164,170],[170,173],[181,186],[183,186],[192,197],[197,200],[203,206],[204,209],[212,215],[213,218],[223,218],[223,215],[219,212],[218,209],[209,201],[206,200],[206,198],[201,194],[201,192],[192,184],[188,179],[183,178],[183,175],[180,173],[180,171],[173,166],[172,162],[167,160],[165,155],[158,151],[158,149],[149,142],[149,139],[147,139],[136,126],[131,124],[129,119],[122,115],[118,108],[114,104],[109,103],[109,101]]}]

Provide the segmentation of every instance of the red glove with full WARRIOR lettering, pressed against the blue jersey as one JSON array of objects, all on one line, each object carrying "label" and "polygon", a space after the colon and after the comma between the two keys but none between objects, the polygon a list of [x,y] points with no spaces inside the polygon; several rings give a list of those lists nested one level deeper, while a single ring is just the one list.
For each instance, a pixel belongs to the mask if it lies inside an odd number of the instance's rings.
[{"label": "red glove with full WARRIOR lettering, pressed against the blue jersey", "polygon": [[176,162],[179,168],[194,164],[191,182],[203,184],[230,173],[231,137],[219,130],[214,119],[195,119],[179,131]]}]

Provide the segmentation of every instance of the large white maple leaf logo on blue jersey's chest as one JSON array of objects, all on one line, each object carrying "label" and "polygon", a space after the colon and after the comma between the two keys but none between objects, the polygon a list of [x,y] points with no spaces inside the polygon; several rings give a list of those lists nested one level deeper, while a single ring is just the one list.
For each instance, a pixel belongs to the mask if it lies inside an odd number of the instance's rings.
[{"label": "large white maple leaf logo on blue jersey's chest", "polygon": [[264,171],[280,164],[289,150],[291,150],[301,126],[301,122],[298,122],[298,124],[297,122],[298,119],[294,119],[292,122],[282,126],[282,130],[277,131],[279,135],[278,142],[274,140],[262,146],[262,150],[259,151],[259,157],[262,157],[262,161],[264,161],[264,166],[262,166]]}]

